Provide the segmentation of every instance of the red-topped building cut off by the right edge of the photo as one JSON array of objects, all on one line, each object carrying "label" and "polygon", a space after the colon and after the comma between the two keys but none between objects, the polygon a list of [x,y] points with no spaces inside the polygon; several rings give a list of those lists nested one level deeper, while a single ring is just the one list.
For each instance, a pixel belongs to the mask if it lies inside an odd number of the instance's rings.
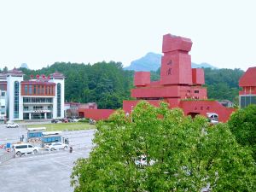
[{"label": "red-topped building cut off by the right edge of the photo", "polygon": [[245,108],[249,104],[256,104],[256,67],[250,67],[241,76],[239,86],[239,106]]}]

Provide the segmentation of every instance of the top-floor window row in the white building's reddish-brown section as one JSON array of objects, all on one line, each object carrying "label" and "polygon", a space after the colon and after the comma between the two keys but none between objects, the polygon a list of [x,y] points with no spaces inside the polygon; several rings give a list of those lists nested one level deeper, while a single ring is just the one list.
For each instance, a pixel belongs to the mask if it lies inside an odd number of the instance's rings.
[{"label": "top-floor window row in the white building's reddish-brown section", "polygon": [[40,84],[25,84],[25,95],[53,95],[53,86]]}]

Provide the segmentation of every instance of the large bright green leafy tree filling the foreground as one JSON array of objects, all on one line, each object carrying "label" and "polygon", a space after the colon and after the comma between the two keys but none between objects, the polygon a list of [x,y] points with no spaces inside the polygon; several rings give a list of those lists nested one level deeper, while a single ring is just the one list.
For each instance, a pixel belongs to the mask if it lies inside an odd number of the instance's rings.
[{"label": "large bright green leafy tree filling the foreground", "polygon": [[[185,117],[166,103],[140,102],[130,116],[118,110],[97,124],[94,143],[73,168],[75,191],[256,190],[255,161],[227,125]],[[142,156],[147,166],[137,164]]]}]

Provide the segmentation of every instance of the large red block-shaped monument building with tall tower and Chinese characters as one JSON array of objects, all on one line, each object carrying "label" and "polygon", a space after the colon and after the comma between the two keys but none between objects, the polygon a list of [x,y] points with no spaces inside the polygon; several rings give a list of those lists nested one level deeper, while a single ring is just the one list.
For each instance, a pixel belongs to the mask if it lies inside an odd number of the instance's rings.
[{"label": "large red block-shaped monument building with tall tower and Chinese characters", "polygon": [[135,73],[136,88],[131,90],[131,96],[137,100],[124,101],[125,112],[131,113],[137,102],[142,100],[156,107],[164,101],[169,103],[170,108],[183,108],[183,112],[192,117],[196,114],[206,116],[207,113],[218,113],[220,121],[227,121],[234,109],[224,108],[215,101],[207,101],[207,89],[202,86],[205,84],[204,70],[191,68],[191,47],[189,38],[164,35],[160,80],[150,81],[149,72]]}]

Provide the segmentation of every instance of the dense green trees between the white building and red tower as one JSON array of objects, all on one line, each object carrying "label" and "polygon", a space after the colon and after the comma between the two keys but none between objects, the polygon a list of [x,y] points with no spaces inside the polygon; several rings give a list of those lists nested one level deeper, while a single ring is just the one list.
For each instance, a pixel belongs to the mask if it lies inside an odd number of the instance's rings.
[{"label": "dense green trees between the white building and red tower", "polygon": [[133,72],[123,70],[120,62],[97,62],[94,65],[56,62],[39,70],[20,68],[30,75],[63,73],[66,102],[96,102],[98,108],[121,108],[123,100],[130,98]]}]

